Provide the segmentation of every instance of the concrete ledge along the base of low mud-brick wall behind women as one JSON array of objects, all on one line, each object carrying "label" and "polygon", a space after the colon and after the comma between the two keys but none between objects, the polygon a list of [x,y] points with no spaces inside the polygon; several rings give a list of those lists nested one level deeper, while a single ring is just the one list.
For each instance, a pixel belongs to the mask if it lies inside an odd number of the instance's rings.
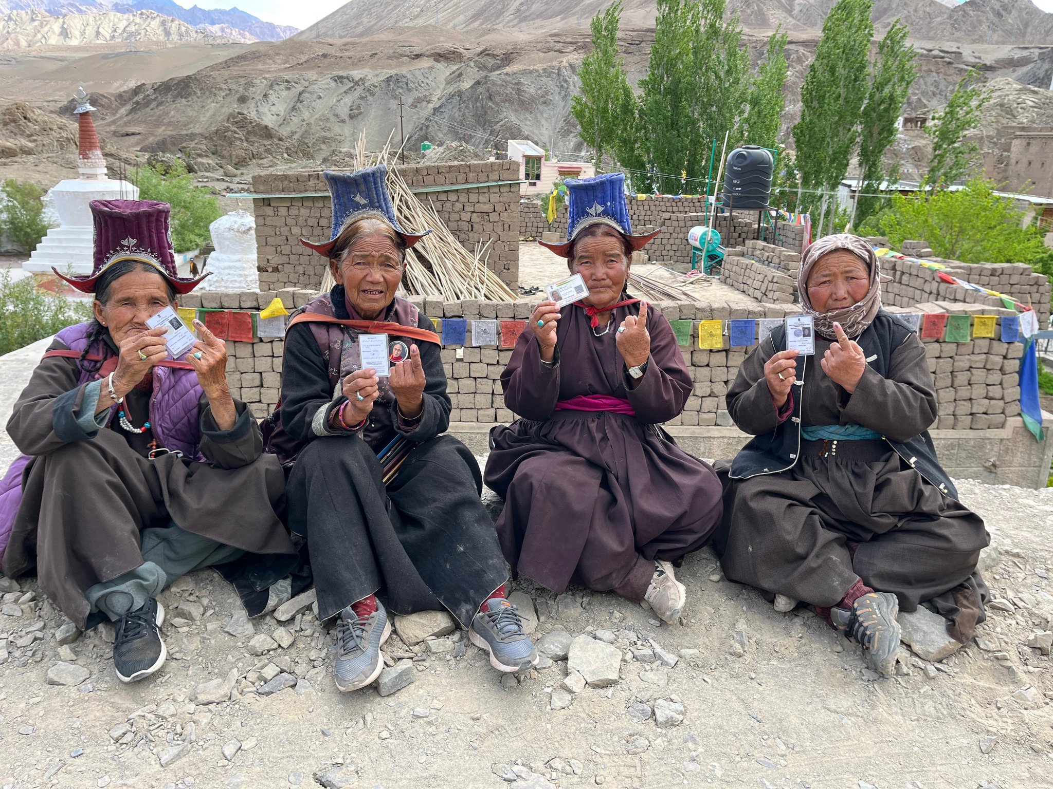
[{"label": "concrete ledge along the base of low mud-brick wall behind women", "polygon": [[[1011,417],[993,430],[932,430],[936,456],[956,480],[978,480],[989,485],[1042,488],[1053,459],[1053,414],[1042,414],[1048,426],[1039,444],[1019,417]],[[449,432],[464,442],[475,454],[490,451],[493,423],[454,422]],[[669,426],[667,431],[680,447],[696,458],[732,458],[750,440],[737,427]]]}]

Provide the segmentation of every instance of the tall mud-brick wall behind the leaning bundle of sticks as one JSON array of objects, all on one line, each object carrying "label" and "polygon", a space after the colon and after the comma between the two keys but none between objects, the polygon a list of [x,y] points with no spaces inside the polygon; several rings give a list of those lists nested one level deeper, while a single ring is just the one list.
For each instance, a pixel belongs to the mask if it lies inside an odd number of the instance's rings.
[{"label": "tall mud-brick wall behind the leaning bundle of sticks", "polygon": [[[435,206],[439,218],[469,251],[490,242],[486,265],[509,285],[519,279],[516,166],[516,162],[502,161],[398,168],[411,189],[434,189],[418,197]],[[330,238],[333,213],[321,171],[254,176],[253,193],[289,195],[253,199],[260,286],[318,287],[325,262],[302,246],[299,239]],[[319,196],[305,197],[310,195]]]}]

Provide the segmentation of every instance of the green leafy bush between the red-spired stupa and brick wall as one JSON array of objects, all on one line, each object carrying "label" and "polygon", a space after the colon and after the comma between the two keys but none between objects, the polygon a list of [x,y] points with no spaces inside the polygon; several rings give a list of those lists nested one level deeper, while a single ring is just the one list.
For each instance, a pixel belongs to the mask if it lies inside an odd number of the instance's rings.
[{"label": "green leafy bush between the red-spired stupa and brick wall", "polygon": [[165,174],[156,167],[142,167],[132,180],[139,187],[140,200],[159,200],[172,206],[172,243],[177,252],[201,247],[211,238],[208,225],[223,216],[216,196],[195,186],[179,160]]}]

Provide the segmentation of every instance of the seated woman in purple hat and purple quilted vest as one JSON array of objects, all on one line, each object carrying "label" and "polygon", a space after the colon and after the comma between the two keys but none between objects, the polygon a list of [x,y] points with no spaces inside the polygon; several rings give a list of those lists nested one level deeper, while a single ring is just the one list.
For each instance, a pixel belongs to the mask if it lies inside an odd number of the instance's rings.
[{"label": "seated woman in purple hat and purple quilted vest", "polygon": [[278,517],[281,466],[231,397],[224,343],[195,321],[201,340],[173,360],[166,329],[146,324],[200,282],[176,276],[168,205],[91,209],[91,276],[56,274],[95,296],[95,318],[56,336],[7,423],[25,454],[0,493],[3,571],[35,567],[82,629],[115,622],[114,666],[133,682],[164,663],[165,586],[246,552],[290,567],[296,553]]}]

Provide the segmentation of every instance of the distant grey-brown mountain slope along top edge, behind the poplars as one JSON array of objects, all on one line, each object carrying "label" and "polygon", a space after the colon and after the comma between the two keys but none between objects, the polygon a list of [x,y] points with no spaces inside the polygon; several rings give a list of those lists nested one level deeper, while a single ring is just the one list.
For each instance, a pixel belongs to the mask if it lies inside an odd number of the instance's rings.
[{"label": "distant grey-brown mountain slope along top edge, behind the poplars", "polygon": [[[952,0],[953,1],[953,0]],[[818,31],[836,0],[731,0],[742,26],[770,31]],[[439,25],[472,31],[494,27],[537,35],[564,27],[589,27],[609,0],[352,0],[298,35],[301,39],[363,38],[393,26]],[[655,0],[625,0],[622,24],[651,26]],[[876,0],[874,22],[887,29],[901,18],[915,39],[962,44],[1048,44],[1053,14],[1031,0],[969,0],[949,7],[939,0]]]}]

